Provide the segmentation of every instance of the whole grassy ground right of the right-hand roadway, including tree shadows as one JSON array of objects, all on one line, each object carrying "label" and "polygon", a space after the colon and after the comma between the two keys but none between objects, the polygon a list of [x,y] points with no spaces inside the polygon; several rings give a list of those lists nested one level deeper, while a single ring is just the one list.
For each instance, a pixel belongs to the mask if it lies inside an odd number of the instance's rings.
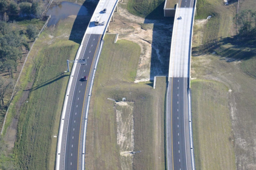
[{"label": "whole grassy ground right of the right-hand roadway, including tree shadows", "polygon": [[[247,3],[253,6],[254,1],[246,1],[246,5],[250,6]],[[220,4],[216,4],[215,1],[198,0],[197,4],[197,18],[205,18],[215,13],[220,17],[212,20],[213,23],[210,24],[212,18],[206,22],[196,21],[194,28],[192,55],[196,57],[192,57],[191,77],[200,79],[192,80],[191,86],[196,168],[255,169],[253,156],[255,149],[251,145],[256,136],[256,132],[252,130],[256,128],[255,95],[253,95],[256,77],[256,50],[253,45],[255,40],[244,39],[239,35],[231,37],[236,34],[233,17],[236,14],[237,2],[228,6],[222,5],[218,9]],[[209,6],[210,4],[212,5]],[[245,9],[242,6],[241,9]],[[228,18],[230,20],[227,22]],[[214,24],[220,25],[218,30],[213,30],[216,29],[214,27],[211,30],[209,27]],[[214,35],[208,36],[210,34]],[[213,52],[215,55],[212,55]],[[217,97],[216,94],[219,96]],[[220,113],[223,118],[218,117]],[[212,116],[210,117],[209,114]],[[230,132],[228,116],[230,116],[232,132]],[[212,127],[213,122],[219,124]],[[226,135],[221,135],[223,130],[226,130]],[[214,136],[216,138],[212,139]],[[219,138],[223,141],[217,146],[216,141]],[[212,149],[213,147],[215,149]],[[234,150],[232,152],[236,156],[230,153],[232,147]],[[223,160],[219,158],[225,160],[224,165]]]}]

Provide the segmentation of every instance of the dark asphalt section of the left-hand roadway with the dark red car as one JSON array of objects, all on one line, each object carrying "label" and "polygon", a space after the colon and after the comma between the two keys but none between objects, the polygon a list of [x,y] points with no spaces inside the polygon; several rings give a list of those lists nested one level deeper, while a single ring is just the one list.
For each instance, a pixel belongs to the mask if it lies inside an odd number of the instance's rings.
[{"label": "dark asphalt section of the left-hand roadway with the dark red car", "polygon": [[[60,164],[60,169],[76,170],[78,169],[79,149],[81,136],[80,132],[82,128],[82,120],[85,113],[85,103],[87,103],[88,94],[86,94],[86,88],[91,81],[90,72],[92,70],[92,62],[95,56],[98,55],[98,48],[101,39],[101,34],[86,34],[85,39],[87,40],[85,45],[82,47],[79,59],[86,60],[86,63],[77,63],[77,69],[75,70],[75,78],[72,84],[74,84],[71,101],[69,102],[69,114],[67,114],[68,126],[65,128],[63,133],[63,140],[65,145],[63,147],[65,152],[61,155],[63,164]],[[81,81],[83,76],[88,76],[87,81]],[[65,118],[66,119],[66,118]],[[63,160],[64,159],[64,160]]]}]

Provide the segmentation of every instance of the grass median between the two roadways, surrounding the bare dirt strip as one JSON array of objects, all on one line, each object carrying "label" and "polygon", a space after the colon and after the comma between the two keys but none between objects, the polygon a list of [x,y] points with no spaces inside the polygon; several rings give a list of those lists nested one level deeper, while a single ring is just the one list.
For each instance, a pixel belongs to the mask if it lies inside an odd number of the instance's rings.
[{"label": "grass median between the two roadways, surrounding the bare dirt strip", "polygon": [[134,84],[140,46],[114,40],[115,35],[105,36],[96,71],[87,126],[86,168],[121,169],[115,103],[107,98],[121,101],[125,97],[133,102],[134,151],[141,151],[134,155],[133,168],[164,169],[166,78],[160,80],[157,90],[151,82]]}]

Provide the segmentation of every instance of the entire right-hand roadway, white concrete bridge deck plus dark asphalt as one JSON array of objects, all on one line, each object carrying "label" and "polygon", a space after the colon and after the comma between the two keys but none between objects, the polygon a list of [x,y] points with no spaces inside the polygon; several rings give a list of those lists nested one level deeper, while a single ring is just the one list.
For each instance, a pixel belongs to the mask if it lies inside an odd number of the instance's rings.
[{"label": "entire right-hand roadway, white concrete bridge deck plus dark asphalt", "polygon": [[168,170],[195,169],[189,116],[190,57],[195,6],[196,0],[180,0],[174,16],[166,101]]}]

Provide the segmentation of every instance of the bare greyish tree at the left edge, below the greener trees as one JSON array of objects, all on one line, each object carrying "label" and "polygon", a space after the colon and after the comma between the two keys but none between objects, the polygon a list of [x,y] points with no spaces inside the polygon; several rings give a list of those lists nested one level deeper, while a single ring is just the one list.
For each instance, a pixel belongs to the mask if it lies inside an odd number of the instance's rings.
[{"label": "bare greyish tree at the left edge, below the greener trees", "polygon": [[2,106],[4,106],[5,97],[12,93],[12,88],[13,88],[13,80],[5,79],[2,76],[0,76],[0,100],[1,100]]}]

